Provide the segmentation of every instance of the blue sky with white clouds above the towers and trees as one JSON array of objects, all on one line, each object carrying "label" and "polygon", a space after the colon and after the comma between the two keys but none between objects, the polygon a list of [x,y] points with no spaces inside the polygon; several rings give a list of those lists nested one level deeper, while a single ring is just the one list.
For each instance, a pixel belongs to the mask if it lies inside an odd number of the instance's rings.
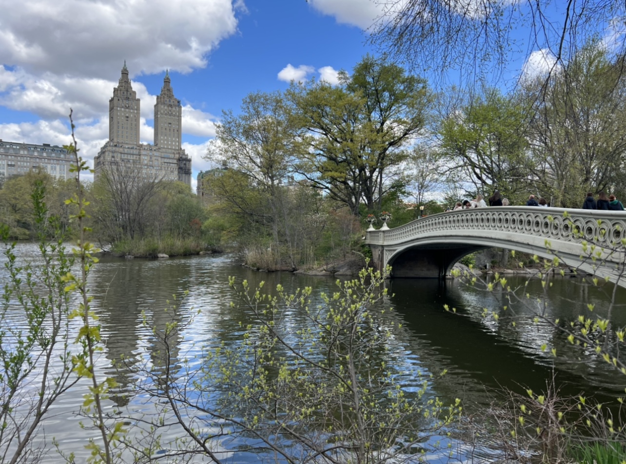
[{"label": "blue sky with white clouds above the towers and trees", "polygon": [[[366,53],[374,0],[0,0],[0,139],[66,144],[74,109],[88,160],[108,137],[108,100],[126,60],[141,141],[165,69],[183,104],[193,176],[223,109],[290,79],[333,81]],[[523,59],[513,66],[519,73]],[[193,185],[195,187],[195,179]]]}]

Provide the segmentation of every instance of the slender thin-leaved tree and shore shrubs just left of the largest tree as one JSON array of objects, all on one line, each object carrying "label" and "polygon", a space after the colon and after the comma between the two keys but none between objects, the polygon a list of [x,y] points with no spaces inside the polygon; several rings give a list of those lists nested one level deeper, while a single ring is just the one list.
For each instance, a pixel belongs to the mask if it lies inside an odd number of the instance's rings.
[{"label": "slender thin-leaved tree and shore shrubs just left of the largest tree", "polygon": [[205,228],[237,235],[251,266],[296,270],[317,248],[326,221],[319,223],[321,196],[290,175],[305,129],[280,93],[250,94],[241,110],[224,112],[207,152],[207,159],[228,167],[203,178],[211,214],[232,218],[211,219]]}]

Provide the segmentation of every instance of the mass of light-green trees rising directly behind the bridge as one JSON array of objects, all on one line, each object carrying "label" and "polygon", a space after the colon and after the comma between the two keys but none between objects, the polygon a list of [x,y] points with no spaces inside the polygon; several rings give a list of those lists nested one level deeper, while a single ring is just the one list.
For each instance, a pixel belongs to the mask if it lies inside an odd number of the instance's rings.
[{"label": "mass of light-green trees rising directly behind the bridge", "polygon": [[580,208],[587,192],[623,197],[625,84],[623,58],[590,39],[562,69],[511,93],[485,87],[449,103],[437,131],[442,178],[471,196],[498,189],[511,204],[530,194],[563,208]]}]

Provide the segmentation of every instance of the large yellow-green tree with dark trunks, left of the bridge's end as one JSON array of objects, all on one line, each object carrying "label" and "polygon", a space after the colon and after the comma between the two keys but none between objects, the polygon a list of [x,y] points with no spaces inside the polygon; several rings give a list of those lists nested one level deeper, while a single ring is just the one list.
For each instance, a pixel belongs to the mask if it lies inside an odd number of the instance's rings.
[{"label": "large yellow-green tree with dark trunks, left of the bridge's end", "polygon": [[[431,96],[423,79],[386,58],[366,56],[337,86],[292,84],[288,96],[307,134],[299,173],[358,213],[376,207],[386,176],[406,159],[403,147],[426,126]],[[380,204],[380,203],[379,203]]]}]

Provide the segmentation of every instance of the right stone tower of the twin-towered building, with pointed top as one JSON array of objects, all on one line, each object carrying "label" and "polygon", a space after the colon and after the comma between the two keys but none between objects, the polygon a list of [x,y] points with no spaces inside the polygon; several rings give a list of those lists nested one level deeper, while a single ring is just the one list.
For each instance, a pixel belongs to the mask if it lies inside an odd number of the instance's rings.
[{"label": "right stone tower of the twin-towered building, with pointed top", "polygon": [[180,150],[182,106],[170,85],[170,74],[165,71],[161,94],[155,104],[155,146],[159,149]]}]

